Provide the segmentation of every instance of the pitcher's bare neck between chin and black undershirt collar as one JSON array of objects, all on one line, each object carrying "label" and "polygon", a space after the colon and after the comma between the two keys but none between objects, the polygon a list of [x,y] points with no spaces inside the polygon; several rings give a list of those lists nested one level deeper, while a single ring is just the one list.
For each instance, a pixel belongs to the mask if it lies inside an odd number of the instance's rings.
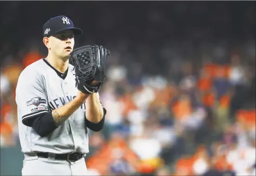
[{"label": "pitcher's bare neck between chin and black undershirt collar", "polygon": [[46,60],[53,66],[56,70],[64,73],[67,70],[68,67],[68,58],[60,58],[57,56],[53,56],[51,54],[48,54],[46,57]]}]

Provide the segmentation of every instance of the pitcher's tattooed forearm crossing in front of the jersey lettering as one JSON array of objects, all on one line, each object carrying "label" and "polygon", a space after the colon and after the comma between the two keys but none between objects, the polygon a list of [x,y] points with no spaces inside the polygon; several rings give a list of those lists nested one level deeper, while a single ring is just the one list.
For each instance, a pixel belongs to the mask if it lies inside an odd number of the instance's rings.
[{"label": "pitcher's tattooed forearm crossing in front of the jersey lettering", "polygon": [[89,95],[82,94],[76,96],[72,101],[68,102],[66,105],[54,109],[52,111],[52,118],[56,124],[56,126],[60,126],[63,122],[65,122],[70,115],[72,115],[83,103],[86,101]]}]

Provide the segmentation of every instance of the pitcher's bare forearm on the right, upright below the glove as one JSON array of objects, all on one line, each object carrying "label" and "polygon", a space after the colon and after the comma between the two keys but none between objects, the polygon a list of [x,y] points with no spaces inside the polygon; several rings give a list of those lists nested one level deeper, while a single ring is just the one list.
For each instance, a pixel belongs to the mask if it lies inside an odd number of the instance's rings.
[{"label": "pitcher's bare forearm on the right, upright below the glove", "polygon": [[98,123],[102,120],[104,111],[99,101],[98,94],[90,95],[86,100],[86,118],[90,122]]}]

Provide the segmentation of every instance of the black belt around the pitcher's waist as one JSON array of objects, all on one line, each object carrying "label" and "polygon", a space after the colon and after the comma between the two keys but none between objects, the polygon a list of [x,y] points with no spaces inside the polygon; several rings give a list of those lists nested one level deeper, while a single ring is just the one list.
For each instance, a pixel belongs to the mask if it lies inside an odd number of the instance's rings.
[{"label": "black belt around the pitcher's waist", "polygon": [[[43,158],[48,158],[48,156],[53,156],[54,154],[52,153],[37,153],[37,156],[43,157]],[[68,160],[68,162],[76,162],[77,160],[81,159],[84,156],[84,154],[81,153],[67,153],[67,154],[55,154],[55,159],[59,160]]]}]

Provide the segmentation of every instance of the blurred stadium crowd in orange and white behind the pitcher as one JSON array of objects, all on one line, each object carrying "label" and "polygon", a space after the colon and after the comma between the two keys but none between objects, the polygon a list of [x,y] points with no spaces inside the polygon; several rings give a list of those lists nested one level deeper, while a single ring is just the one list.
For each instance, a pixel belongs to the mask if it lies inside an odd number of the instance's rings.
[{"label": "blurred stadium crowd in orange and white behind the pitcher", "polygon": [[[255,175],[255,2],[1,2],[1,175],[20,175],[15,88],[65,15],[111,50],[89,175]],[[28,80],[29,81],[29,80]]]}]

